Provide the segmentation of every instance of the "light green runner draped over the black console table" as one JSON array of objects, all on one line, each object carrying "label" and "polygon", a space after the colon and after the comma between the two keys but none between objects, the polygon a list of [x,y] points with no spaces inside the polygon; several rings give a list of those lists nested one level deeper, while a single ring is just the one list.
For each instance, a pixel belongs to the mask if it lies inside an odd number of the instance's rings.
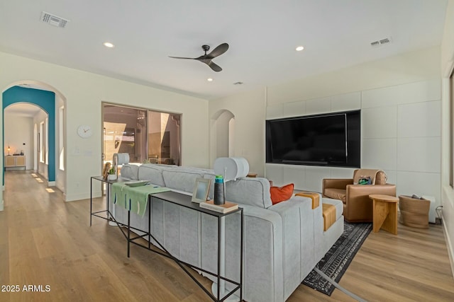
[{"label": "light green runner draped over the black console table", "polygon": [[130,187],[121,182],[112,184],[112,196],[114,204],[124,207],[128,211],[137,213],[140,216],[145,214],[147,208],[148,195],[170,191],[167,187],[156,187],[154,185],[142,185],[139,187]]}]

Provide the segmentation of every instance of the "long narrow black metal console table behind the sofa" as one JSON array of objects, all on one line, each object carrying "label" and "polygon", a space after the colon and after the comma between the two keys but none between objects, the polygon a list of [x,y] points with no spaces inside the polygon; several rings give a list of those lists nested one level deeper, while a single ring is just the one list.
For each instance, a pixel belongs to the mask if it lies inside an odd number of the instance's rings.
[{"label": "long narrow black metal console table behind the sofa", "polygon": [[[92,198],[92,180],[99,180],[101,182],[105,182],[107,183],[107,189],[106,189],[106,209],[105,210],[101,210],[101,211],[92,211],[92,203],[93,203],[93,198]],[[244,215],[243,215],[243,208],[238,208],[234,211],[230,211],[228,213],[218,213],[216,211],[211,211],[209,209],[204,209],[204,208],[201,208],[199,207],[199,204],[196,204],[194,202],[191,202],[191,199],[192,197],[190,195],[186,195],[186,194],[181,194],[181,193],[177,193],[177,192],[172,192],[172,191],[168,191],[168,192],[160,192],[160,193],[156,193],[156,194],[150,194],[149,197],[148,197],[148,230],[145,231],[145,230],[140,230],[138,228],[133,228],[131,227],[131,211],[128,211],[128,223],[121,223],[119,221],[116,221],[114,215],[111,214],[111,211],[109,211],[109,185],[113,184],[114,182],[118,182],[118,180],[105,180],[104,178],[102,178],[101,176],[92,176],[91,180],[90,180],[90,226],[92,226],[92,216],[96,216],[96,217],[99,217],[101,219],[106,219],[108,221],[114,221],[116,223],[116,225],[118,226],[118,228],[120,228],[121,230],[121,233],[123,233],[123,236],[125,236],[126,240],[127,240],[127,243],[128,243],[128,257],[130,257],[130,253],[131,253],[131,243],[135,244],[135,245],[138,245],[140,246],[141,248],[145,248],[147,250],[150,250],[152,252],[156,252],[162,256],[165,256],[165,257],[169,257],[170,259],[174,260],[177,265],[179,265],[179,267],[181,267],[184,272],[186,272],[189,277],[191,277],[192,280],[194,280],[194,282],[196,282],[196,284],[198,286],[201,287],[201,289],[203,289],[203,291],[213,300],[213,301],[225,301],[227,298],[229,298],[230,296],[232,296],[236,291],[240,291],[240,301],[243,301],[243,233],[244,233],[244,230],[243,230],[243,226],[244,226]],[[151,207],[150,207],[150,204],[151,202],[153,202],[153,199],[160,199],[164,202],[170,202],[172,204],[177,204],[178,206],[180,207],[185,207],[187,209],[192,209],[194,211],[199,211],[200,213],[202,214],[206,214],[206,215],[210,215],[210,216],[214,216],[218,219],[218,267],[217,267],[217,272],[216,273],[213,273],[213,272],[209,272],[207,271],[206,269],[202,269],[201,267],[196,267],[195,265],[191,265],[187,262],[184,262],[182,260],[179,260],[177,257],[175,257],[174,255],[172,255],[170,252],[167,251],[167,249],[162,246],[162,244],[159,242],[159,240],[157,240],[153,234],[150,232],[150,223],[151,223]],[[105,216],[101,216],[100,214],[101,213],[105,213]],[[231,215],[231,214],[234,214],[234,213],[238,213],[241,215],[241,227],[240,227],[240,281],[234,281],[234,280],[231,280],[231,279],[228,279],[226,277],[224,277],[222,274],[223,272],[222,271],[222,268],[223,268],[223,262],[225,261],[225,259],[223,259],[223,249],[225,248],[225,243],[223,242],[223,233],[225,231],[225,218],[226,216],[228,215]],[[127,228],[127,231],[125,232],[123,230],[123,228],[121,228],[121,226],[126,226]],[[131,230],[134,230],[134,231],[139,231],[141,233],[144,233],[143,235],[138,235],[138,236],[135,236],[133,238],[131,238]],[[147,238],[148,237],[148,245],[143,245],[141,243],[138,243],[136,242],[135,240],[137,239],[140,239],[140,238]],[[157,245],[159,245],[159,248],[161,250],[157,250],[156,248],[152,248],[151,247],[151,239],[153,238],[153,240],[155,240],[155,242],[157,243]],[[197,280],[193,274],[189,271],[189,269],[187,269],[187,267],[191,267],[192,269],[198,269],[199,271],[201,272],[204,272],[206,274],[210,274],[211,276],[214,276],[217,278],[217,288],[216,288],[216,296],[214,294],[212,294],[208,289],[205,288],[205,286],[203,284],[201,284],[199,282],[199,280]],[[225,295],[223,297],[221,297],[221,292],[222,292],[222,289],[221,289],[221,284],[223,284],[225,281],[233,284],[233,286],[235,286],[231,291],[228,291],[227,293],[225,293]]]}]

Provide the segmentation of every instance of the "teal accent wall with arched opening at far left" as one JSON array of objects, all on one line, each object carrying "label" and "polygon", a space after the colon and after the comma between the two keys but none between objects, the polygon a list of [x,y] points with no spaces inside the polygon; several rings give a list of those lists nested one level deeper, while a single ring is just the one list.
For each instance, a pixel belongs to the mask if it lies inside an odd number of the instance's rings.
[{"label": "teal accent wall with arched opening at far left", "polygon": [[[5,108],[14,103],[31,103],[48,114],[48,181],[55,181],[55,93],[19,86],[9,88],[3,93],[3,110],[1,112],[3,121],[5,120]],[[5,134],[5,124],[3,124],[3,134]],[[3,141],[4,145],[5,142]],[[4,174],[3,184],[5,184]]]}]

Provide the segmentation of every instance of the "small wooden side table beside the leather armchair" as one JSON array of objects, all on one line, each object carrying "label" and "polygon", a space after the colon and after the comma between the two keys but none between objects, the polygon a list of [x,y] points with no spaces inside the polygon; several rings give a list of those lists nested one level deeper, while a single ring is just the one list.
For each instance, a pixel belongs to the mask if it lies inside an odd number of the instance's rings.
[{"label": "small wooden side table beside the leather armchair", "polygon": [[397,235],[397,202],[399,198],[394,196],[371,194],[373,200],[373,232],[377,233],[380,228]]}]

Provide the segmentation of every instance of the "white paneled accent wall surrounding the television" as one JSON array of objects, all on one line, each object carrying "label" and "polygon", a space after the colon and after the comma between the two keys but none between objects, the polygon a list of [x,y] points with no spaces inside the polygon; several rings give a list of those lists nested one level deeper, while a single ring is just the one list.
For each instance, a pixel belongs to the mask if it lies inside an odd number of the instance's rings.
[{"label": "white paneled accent wall surrounding the television", "polygon": [[[305,115],[361,109],[361,167],[384,170],[388,182],[397,185],[397,194],[426,194],[435,196],[440,202],[439,79],[301,100],[282,106],[289,114],[289,110],[304,108],[304,103]],[[275,106],[267,108],[272,115],[277,111]],[[301,178],[303,170],[304,178]],[[276,185],[293,182],[297,190],[321,192],[323,178],[351,178],[353,170],[267,164],[265,175]]]}]

